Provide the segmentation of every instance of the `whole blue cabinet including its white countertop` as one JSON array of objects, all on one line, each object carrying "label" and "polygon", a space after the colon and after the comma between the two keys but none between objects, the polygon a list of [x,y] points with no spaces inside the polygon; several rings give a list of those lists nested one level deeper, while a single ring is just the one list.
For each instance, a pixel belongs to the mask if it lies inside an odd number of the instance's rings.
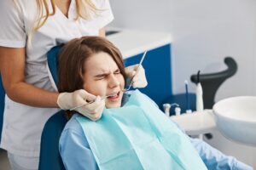
[{"label": "whole blue cabinet including its white countertop", "polygon": [[172,95],[172,36],[164,32],[114,31],[108,40],[123,54],[125,66],[143,60],[148,86],[139,90],[147,94],[162,109],[163,102]]}]

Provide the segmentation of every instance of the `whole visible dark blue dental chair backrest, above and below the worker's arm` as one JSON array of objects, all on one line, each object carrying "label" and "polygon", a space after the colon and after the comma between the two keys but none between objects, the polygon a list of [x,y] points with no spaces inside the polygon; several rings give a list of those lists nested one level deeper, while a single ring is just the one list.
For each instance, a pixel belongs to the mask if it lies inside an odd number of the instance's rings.
[{"label": "whole visible dark blue dental chair backrest, above and below the worker's arm", "polygon": [[[55,84],[58,83],[58,54],[62,45],[49,50],[47,54],[49,71]],[[67,123],[65,111],[58,111],[49,117],[41,136],[39,170],[65,170],[59,153],[59,139]]]}]

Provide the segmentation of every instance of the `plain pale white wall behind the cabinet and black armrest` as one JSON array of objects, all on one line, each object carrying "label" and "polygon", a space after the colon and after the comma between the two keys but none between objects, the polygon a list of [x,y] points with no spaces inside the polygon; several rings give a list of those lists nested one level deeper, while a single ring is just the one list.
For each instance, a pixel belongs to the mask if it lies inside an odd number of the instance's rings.
[{"label": "plain pale white wall behind the cabinet and black armrest", "polygon": [[[110,26],[172,34],[173,92],[184,91],[191,74],[222,71],[224,57],[238,63],[217,100],[256,94],[255,0],[111,0]],[[136,37],[135,37],[136,38]],[[136,41],[136,40],[135,40]],[[195,85],[191,84],[191,91]]]}]

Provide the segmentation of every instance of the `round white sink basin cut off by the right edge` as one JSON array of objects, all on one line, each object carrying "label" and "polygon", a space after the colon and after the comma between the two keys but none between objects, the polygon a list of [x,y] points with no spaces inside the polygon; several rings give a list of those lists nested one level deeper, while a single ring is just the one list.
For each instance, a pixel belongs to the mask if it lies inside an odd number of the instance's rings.
[{"label": "round white sink basin cut off by the right edge", "polygon": [[256,145],[256,97],[239,96],[213,105],[216,125],[228,139]]}]

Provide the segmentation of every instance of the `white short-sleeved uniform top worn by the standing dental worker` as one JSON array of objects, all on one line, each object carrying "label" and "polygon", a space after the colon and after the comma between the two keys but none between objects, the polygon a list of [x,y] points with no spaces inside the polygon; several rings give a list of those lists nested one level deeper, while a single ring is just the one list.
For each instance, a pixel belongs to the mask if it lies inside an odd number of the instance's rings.
[{"label": "white short-sleeved uniform top worn by the standing dental worker", "polygon": [[[26,46],[37,14],[37,4],[35,0],[16,2],[18,4],[15,5],[13,0],[0,1],[0,46],[26,47],[25,81],[49,91],[54,91],[47,71],[46,53],[49,49],[75,37],[98,35],[99,30],[113,20],[108,0],[94,0],[96,7],[103,10],[93,20],[73,20],[76,6],[72,0],[68,18],[56,8],[55,15],[50,16],[32,37],[31,46]],[[44,123],[56,111],[58,109],[21,105],[5,96],[1,147],[19,156],[39,156]]]}]

